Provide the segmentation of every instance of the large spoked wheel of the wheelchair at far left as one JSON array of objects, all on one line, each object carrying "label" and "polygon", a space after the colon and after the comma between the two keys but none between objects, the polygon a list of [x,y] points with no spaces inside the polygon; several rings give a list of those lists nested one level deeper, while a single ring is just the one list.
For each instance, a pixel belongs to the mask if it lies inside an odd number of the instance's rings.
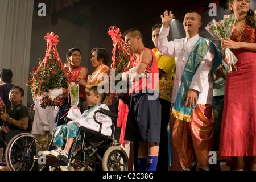
[{"label": "large spoked wheel of the wheelchair at far left", "polygon": [[[42,170],[34,161],[36,156],[35,140],[44,147],[42,142],[30,133],[15,135],[6,147],[6,165],[11,171],[38,171]],[[43,167],[42,167],[43,168]]]}]

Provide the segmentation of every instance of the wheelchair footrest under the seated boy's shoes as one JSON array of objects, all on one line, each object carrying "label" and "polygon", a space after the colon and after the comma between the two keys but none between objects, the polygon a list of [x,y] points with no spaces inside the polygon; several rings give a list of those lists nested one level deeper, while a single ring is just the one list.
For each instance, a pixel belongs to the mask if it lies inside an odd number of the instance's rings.
[{"label": "wheelchair footrest under the seated boy's shoes", "polygon": [[59,155],[57,156],[57,158],[49,156],[36,156],[34,160],[38,161],[39,164],[43,164],[46,166],[67,166],[67,164],[69,163],[69,159],[63,155]]}]

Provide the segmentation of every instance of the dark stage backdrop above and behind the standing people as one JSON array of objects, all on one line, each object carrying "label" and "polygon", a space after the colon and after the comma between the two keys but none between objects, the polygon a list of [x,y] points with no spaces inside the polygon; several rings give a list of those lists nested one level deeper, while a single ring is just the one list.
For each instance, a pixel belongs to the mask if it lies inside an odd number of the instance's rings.
[{"label": "dark stage backdrop above and behind the standing people", "polygon": [[[46,17],[38,15],[39,3],[46,5]],[[217,6],[217,16],[209,16],[209,3]],[[255,1],[251,1],[251,9],[256,9]],[[203,23],[199,35],[216,44],[219,41],[204,27],[213,18],[220,20],[224,14],[229,14],[226,0],[34,0],[30,72],[38,65],[39,58],[45,56],[47,45],[43,38],[47,32],[59,36],[57,50],[63,63],[68,49],[78,47],[81,50],[81,65],[89,69],[89,75],[94,71],[90,64],[90,51],[94,47],[106,48],[110,59],[112,57],[113,42],[108,34],[111,26],[120,28],[121,32],[138,28],[144,36],[145,46],[152,49],[151,28],[156,23],[162,23],[160,15],[165,10],[171,10],[176,19],[171,22],[170,40],[185,36],[183,15],[188,10],[196,10],[201,13]],[[28,101],[32,102],[30,97],[28,94]]]}]

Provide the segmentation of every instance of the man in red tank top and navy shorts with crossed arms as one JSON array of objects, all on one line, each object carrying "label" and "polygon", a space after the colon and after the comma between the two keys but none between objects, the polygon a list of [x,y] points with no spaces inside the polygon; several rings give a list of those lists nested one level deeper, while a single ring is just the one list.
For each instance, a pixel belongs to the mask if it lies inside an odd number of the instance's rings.
[{"label": "man in red tank top and navy shorts with crossed arms", "polygon": [[[123,36],[127,48],[135,55],[122,75],[123,80],[132,83],[125,140],[138,142],[138,167],[135,166],[135,169],[155,171],[161,121],[161,105],[155,91],[158,84],[158,63],[154,52],[144,47],[141,31],[133,28]],[[150,71],[148,76],[144,74],[146,69]],[[137,156],[137,151],[134,155]]]}]

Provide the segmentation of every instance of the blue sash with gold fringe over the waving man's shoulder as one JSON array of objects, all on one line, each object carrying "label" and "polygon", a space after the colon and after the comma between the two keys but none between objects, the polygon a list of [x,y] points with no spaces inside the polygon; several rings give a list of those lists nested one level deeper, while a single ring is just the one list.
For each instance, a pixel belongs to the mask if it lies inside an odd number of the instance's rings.
[{"label": "blue sash with gold fringe over the waving man's shoulder", "polygon": [[[172,108],[172,114],[174,115],[174,117],[180,120],[184,119],[185,121],[190,121],[190,116],[192,114],[192,111],[196,107],[196,103],[193,107],[185,106],[185,101],[183,100],[183,98],[185,97],[185,94],[189,89],[192,78],[195,75],[196,69],[200,61],[203,59],[205,54],[209,51],[211,44],[214,47],[214,52],[215,52],[215,56],[213,59],[213,67],[211,72],[212,78],[213,78],[213,73],[221,64],[222,54],[220,50],[215,46],[215,44],[206,38],[200,38],[199,40],[197,40],[195,46],[193,47],[188,57],[187,64],[185,65],[184,71],[182,73],[181,84],[177,92],[177,97],[174,103],[174,107]],[[198,98],[198,95],[199,94],[197,93],[197,98]]]}]

